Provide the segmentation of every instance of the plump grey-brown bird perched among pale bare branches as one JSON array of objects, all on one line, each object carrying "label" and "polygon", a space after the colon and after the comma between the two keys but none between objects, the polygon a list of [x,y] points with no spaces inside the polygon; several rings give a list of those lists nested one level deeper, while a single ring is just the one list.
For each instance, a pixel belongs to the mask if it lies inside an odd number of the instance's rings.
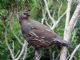
[{"label": "plump grey-brown bird perched among pale bare branches", "polygon": [[50,48],[54,44],[69,45],[69,42],[62,40],[49,27],[31,19],[28,11],[24,11],[19,16],[19,23],[23,37],[36,49],[35,60],[40,60],[43,48]]}]

